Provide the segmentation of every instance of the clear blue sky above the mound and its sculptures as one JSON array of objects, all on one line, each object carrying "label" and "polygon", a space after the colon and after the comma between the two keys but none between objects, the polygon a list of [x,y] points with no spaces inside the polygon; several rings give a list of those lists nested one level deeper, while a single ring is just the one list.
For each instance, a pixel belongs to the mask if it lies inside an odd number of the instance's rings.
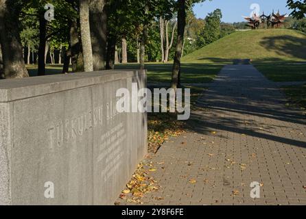
[{"label": "clear blue sky above the mound and its sculptures", "polygon": [[193,8],[197,18],[205,18],[209,12],[220,8],[222,10],[224,22],[244,21],[242,16],[250,16],[252,3],[260,6],[260,12],[270,14],[274,9],[276,12],[280,10],[281,14],[290,14],[290,10],[286,7],[287,0],[213,0],[198,3]]}]

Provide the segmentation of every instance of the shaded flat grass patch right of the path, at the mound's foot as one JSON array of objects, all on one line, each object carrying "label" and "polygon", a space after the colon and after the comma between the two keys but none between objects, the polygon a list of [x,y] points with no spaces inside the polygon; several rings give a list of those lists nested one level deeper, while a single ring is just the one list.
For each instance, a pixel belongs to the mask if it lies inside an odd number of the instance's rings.
[{"label": "shaded flat grass patch right of the path, at the mound's foot", "polygon": [[271,81],[306,81],[306,61],[255,62],[254,64]]}]

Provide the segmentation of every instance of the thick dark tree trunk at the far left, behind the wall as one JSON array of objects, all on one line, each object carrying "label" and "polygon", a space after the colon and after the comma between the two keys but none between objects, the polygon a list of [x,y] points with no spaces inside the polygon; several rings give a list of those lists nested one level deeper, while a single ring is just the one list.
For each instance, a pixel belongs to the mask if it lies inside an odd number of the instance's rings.
[{"label": "thick dark tree trunk at the far left, behind the wall", "polygon": [[14,0],[0,0],[0,44],[5,78],[29,77],[16,27],[19,10],[21,8],[16,7]]}]

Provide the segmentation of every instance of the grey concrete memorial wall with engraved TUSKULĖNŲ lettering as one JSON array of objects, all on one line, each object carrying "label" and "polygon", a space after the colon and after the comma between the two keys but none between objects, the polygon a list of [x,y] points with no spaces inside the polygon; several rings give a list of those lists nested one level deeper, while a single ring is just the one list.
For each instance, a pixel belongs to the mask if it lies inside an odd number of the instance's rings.
[{"label": "grey concrete memorial wall with engraved TUSKUL\u0116N\u0172 lettering", "polygon": [[147,118],[118,113],[133,70],[0,81],[0,205],[113,205],[147,153]]}]

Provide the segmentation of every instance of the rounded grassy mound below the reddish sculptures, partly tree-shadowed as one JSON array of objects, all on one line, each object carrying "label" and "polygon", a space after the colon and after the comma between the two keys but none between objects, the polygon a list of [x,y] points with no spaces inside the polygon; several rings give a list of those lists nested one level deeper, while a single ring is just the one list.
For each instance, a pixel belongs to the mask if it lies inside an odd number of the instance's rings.
[{"label": "rounded grassy mound below the reddish sculptures, partly tree-shadowed", "polygon": [[306,35],[290,29],[237,31],[183,57],[183,62],[256,62],[306,60]]}]

